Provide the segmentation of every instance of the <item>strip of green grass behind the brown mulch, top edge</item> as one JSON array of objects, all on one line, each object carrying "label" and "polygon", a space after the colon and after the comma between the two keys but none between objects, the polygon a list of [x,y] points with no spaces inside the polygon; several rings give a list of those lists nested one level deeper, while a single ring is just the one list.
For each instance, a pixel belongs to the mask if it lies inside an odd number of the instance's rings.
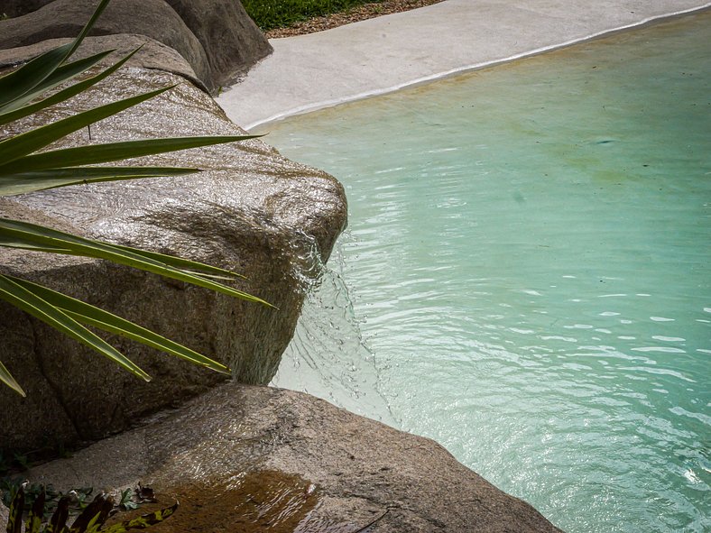
[{"label": "strip of green grass behind the brown mulch, top edge", "polygon": [[263,32],[283,28],[324,14],[346,11],[356,5],[383,0],[242,0],[245,11]]}]

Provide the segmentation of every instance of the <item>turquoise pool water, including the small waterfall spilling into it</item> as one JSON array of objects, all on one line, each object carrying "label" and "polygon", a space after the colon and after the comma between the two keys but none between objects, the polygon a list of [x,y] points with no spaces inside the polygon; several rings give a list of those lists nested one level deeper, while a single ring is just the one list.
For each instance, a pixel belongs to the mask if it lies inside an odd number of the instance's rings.
[{"label": "turquoise pool water, including the small waterfall spilling into it", "polygon": [[711,530],[709,28],[270,126],[350,210],[277,384],[435,438],[570,533]]}]

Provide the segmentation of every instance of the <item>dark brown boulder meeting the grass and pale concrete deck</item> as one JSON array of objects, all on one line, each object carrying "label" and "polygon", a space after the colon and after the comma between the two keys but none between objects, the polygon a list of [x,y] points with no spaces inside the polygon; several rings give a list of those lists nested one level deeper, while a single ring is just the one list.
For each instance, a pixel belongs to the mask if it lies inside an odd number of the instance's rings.
[{"label": "dark brown boulder meeting the grass and pale concrete deck", "polygon": [[195,34],[208,55],[218,86],[234,81],[272,53],[272,46],[242,3],[235,0],[167,0]]}]

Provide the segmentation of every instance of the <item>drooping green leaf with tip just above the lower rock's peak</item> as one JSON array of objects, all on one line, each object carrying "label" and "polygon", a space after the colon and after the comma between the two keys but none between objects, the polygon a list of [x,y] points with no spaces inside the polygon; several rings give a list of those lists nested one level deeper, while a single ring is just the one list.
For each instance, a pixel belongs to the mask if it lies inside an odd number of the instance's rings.
[{"label": "drooping green leaf with tip just above the lower rock's peak", "polygon": [[125,318],[117,317],[104,309],[97,308],[78,299],[73,299],[56,290],[42,287],[42,285],[32,283],[32,281],[21,280],[14,276],[7,277],[24,289],[32,292],[35,296],[38,296],[56,308],[60,308],[69,317],[74,318],[78,322],[97,327],[109,333],[125,336],[143,345],[151,346],[167,354],[176,355],[191,363],[209,368],[210,370],[227,374],[230,373],[224,364],[217,363],[217,361],[213,361],[203,354],[199,354],[186,346],[173,342],[162,335],[158,335],[150,329],[138,326],[134,324],[134,322],[125,320]]}]

